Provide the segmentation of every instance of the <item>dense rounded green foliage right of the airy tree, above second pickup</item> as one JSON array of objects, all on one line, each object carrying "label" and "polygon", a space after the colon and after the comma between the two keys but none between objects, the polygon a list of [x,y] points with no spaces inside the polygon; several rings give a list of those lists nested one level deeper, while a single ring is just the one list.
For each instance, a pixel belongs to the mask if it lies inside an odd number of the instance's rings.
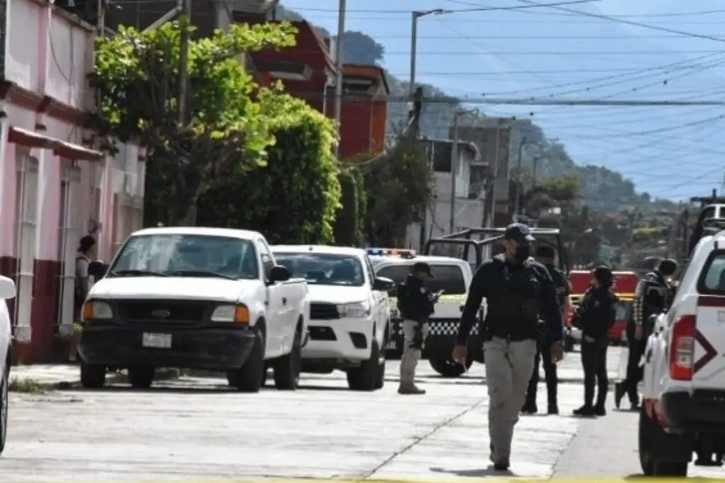
[{"label": "dense rounded green foliage right of the airy tree, above second pickup", "polygon": [[219,180],[199,201],[199,222],[258,230],[270,243],[332,243],[341,194],[334,123],[278,87],[259,101],[275,138],[268,162]]}]

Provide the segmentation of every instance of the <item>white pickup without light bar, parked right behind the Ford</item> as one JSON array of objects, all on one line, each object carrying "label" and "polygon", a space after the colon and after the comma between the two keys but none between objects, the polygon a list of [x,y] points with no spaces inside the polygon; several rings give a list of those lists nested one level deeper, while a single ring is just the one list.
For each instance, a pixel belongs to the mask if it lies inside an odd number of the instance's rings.
[{"label": "white pickup without light bar, parked right behind the Ford", "polygon": [[352,390],[383,387],[393,282],[376,277],[360,248],[277,245],[272,251],[278,264],[307,280],[310,340],[302,348],[302,371],[341,369]]}]

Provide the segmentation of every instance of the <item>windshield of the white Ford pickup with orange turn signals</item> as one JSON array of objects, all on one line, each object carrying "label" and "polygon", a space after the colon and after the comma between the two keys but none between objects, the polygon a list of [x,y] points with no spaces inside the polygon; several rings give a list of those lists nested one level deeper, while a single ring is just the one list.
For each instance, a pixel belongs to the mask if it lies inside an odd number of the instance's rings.
[{"label": "windshield of the white Ford pickup with orange turn signals", "polygon": [[109,277],[219,277],[256,279],[250,240],[208,235],[138,235],[123,245]]}]

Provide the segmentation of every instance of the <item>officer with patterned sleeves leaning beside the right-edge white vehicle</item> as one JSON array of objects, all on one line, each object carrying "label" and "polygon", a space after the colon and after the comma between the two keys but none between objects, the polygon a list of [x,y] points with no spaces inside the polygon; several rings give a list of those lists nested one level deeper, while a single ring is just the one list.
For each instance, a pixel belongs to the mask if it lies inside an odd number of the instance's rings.
[{"label": "officer with patterned sleeves leaning beside the right-edge white vehicle", "polygon": [[624,381],[618,382],[614,388],[614,405],[619,408],[624,395],[629,398],[631,407],[639,406],[637,385],[642,381],[642,367],[639,361],[647,347],[652,327],[650,317],[658,315],[669,308],[674,298],[675,285],[668,279],[677,271],[677,262],[672,259],[660,261],[657,268],[645,274],[637,284],[632,301],[632,314],[627,324],[627,375]]}]

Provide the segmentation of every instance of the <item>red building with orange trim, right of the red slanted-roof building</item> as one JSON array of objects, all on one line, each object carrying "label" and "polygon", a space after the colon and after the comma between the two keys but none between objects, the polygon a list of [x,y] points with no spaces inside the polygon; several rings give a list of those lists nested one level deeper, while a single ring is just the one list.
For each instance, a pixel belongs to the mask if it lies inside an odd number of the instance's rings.
[{"label": "red building with orange trim, right of the red slanted-roof building", "polygon": [[385,72],[376,65],[345,64],[342,91],[340,157],[380,153],[390,94]]}]

